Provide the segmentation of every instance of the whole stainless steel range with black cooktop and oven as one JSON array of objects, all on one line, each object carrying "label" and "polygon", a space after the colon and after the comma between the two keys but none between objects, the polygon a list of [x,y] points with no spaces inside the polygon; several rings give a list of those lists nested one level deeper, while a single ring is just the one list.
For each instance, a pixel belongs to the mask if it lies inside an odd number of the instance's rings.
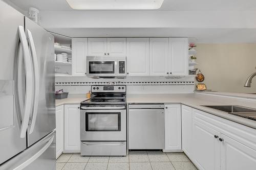
[{"label": "whole stainless steel range with black cooktop and oven", "polygon": [[126,86],[92,86],[80,104],[81,155],[126,155]]}]

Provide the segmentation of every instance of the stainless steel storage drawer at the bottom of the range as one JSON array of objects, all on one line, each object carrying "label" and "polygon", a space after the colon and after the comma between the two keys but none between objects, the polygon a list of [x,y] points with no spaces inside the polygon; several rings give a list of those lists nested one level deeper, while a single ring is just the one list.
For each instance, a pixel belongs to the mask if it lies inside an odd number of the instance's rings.
[{"label": "stainless steel storage drawer at the bottom of the range", "polygon": [[81,141],[81,155],[125,156],[126,141]]}]

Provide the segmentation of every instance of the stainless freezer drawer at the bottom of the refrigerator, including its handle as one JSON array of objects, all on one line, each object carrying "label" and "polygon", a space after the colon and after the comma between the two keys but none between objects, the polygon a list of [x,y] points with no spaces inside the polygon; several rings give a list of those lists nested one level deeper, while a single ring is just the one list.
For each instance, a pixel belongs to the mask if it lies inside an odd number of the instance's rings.
[{"label": "stainless freezer drawer at the bottom of the refrigerator, including its handle", "polygon": [[55,170],[55,131],[0,166],[0,170]]}]

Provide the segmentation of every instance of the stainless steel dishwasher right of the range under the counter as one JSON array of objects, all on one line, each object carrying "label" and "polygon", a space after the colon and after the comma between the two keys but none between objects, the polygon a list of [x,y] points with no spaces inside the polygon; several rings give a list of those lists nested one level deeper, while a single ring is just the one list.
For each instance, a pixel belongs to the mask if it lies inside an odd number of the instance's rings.
[{"label": "stainless steel dishwasher right of the range under the counter", "polygon": [[130,104],[129,149],[164,149],[164,104]]}]

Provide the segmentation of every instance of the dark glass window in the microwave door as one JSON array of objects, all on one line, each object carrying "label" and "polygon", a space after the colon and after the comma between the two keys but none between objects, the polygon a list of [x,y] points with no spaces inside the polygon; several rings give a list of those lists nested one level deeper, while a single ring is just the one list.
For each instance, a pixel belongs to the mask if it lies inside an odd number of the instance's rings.
[{"label": "dark glass window in the microwave door", "polygon": [[89,61],[90,74],[115,74],[115,61]]}]

